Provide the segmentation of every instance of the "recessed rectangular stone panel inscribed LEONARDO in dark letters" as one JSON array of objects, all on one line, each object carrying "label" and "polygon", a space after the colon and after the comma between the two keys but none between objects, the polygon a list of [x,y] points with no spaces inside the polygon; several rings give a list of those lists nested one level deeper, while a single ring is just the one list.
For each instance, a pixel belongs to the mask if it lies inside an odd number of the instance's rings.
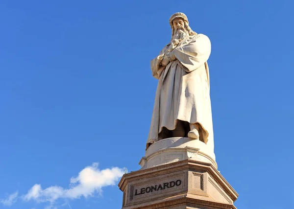
[{"label": "recessed rectangular stone panel inscribed LEONARDO in dark letters", "polygon": [[131,183],[128,189],[127,202],[137,202],[159,198],[172,193],[180,193],[185,187],[184,173],[164,178],[149,178]]}]

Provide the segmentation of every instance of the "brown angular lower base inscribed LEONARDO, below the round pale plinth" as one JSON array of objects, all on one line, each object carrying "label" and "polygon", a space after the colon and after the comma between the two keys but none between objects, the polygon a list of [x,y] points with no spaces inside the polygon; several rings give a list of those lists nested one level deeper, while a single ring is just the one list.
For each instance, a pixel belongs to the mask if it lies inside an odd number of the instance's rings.
[{"label": "brown angular lower base inscribed LEONARDO, below the round pale plinth", "polygon": [[238,194],[211,163],[187,159],[124,174],[123,209],[236,209]]}]

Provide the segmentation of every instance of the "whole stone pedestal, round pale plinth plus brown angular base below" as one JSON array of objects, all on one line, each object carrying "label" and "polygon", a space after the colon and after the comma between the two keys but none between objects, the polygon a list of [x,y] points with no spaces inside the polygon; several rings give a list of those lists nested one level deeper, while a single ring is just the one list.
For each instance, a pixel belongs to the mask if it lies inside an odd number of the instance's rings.
[{"label": "whole stone pedestal, round pale plinth plus brown angular base below", "polygon": [[123,209],[236,209],[238,194],[208,151],[205,143],[189,138],[151,145],[142,169],[124,174],[119,183]]}]

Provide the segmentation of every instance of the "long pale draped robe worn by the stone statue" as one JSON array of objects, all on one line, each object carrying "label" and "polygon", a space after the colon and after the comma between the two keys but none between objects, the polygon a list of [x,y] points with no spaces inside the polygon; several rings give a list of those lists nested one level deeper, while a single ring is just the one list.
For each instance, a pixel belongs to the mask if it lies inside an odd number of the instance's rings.
[{"label": "long pale draped robe worn by the stone statue", "polygon": [[163,128],[174,130],[178,120],[199,124],[204,143],[213,150],[213,127],[209,94],[207,60],[211,43],[207,36],[197,34],[188,37],[172,50],[173,61],[161,65],[165,46],[151,60],[153,77],[159,79],[155,95],[153,115],[147,148],[158,141]]}]

